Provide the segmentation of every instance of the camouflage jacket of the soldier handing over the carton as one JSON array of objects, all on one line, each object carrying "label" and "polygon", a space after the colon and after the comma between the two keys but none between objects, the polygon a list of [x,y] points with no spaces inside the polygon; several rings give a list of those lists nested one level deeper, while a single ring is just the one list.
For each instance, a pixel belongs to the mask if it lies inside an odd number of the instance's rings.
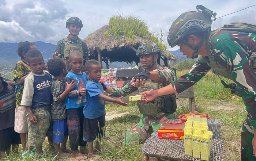
[{"label": "camouflage jacket of the soldier handing over the carton", "polygon": [[[218,56],[217,64],[226,65],[238,92],[244,100],[252,126],[256,129],[256,75],[252,65],[256,58],[256,34],[218,31],[211,39],[210,49]],[[208,57],[204,57],[208,61]],[[211,68],[197,61],[192,69],[171,84],[178,93],[194,85]]]}]

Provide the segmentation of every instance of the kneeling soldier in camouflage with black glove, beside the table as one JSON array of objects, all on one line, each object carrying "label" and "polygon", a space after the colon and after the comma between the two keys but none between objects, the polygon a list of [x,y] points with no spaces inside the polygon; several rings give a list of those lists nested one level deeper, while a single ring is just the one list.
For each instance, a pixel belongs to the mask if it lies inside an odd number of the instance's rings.
[{"label": "kneeling soldier in camouflage with black glove, beside the table", "polygon": [[[173,81],[172,70],[166,67],[162,68],[157,64],[157,58],[161,56],[160,48],[157,44],[154,42],[143,43],[139,46],[136,55],[139,56],[142,67],[146,70],[145,72],[142,72],[143,74],[140,76],[142,76],[142,79],[143,76],[144,78],[150,79],[146,82],[147,86],[139,86],[138,83],[134,83],[133,81],[136,81],[136,75],[131,83],[126,84],[124,87],[112,88],[111,96],[127,96],[138,89],[139,92],[154,90],[153,86],[157,86],[155,89],[158,89],[169,85]],[[138,78],[140,76],[138,76]],[[145,107],[148,108],[153,106],[151,103],[145,104],[143,102],[137,102],[137,104],[141,113],[143,113],[142,108],[144,105],[146,105]],[[159,129],[161,123],[166,122],[167,119],[174,119],[174,114],[166,114],[163,111],[156,112],[155,114],[142,114],[140,122],[133,128],[129,129],[125,134],[123,145],[143,143],[149,137],[149,135],[152,134],[153,130]]]}]

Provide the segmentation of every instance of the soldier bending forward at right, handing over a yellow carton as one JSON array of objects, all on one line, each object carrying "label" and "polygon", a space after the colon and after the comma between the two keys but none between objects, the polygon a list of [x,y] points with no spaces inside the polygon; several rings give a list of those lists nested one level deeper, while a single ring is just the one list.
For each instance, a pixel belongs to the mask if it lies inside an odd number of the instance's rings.
[{"label": "soldier bending forward at right, handing over a yellow carton", "polygon": [[212,69],[215,74],[230,78],[237,86],[248,115],[241,129],[241,160],[256,161],[256,34],[232,30],[211,31],[214,13],[204,8],[179,16],[169,29],[168,43],[178,45],[189,58],[198,56],[196,64],[170,85],[141,93],[145,102],[157,96],[181,93],[199,81]]}]

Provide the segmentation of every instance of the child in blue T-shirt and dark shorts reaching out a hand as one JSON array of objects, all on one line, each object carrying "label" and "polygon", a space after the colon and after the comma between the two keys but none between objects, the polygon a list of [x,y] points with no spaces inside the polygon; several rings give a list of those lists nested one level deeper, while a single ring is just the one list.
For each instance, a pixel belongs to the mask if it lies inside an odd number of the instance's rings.
[{"label": "child in blue T-shirt and dark shorts reaching out a hand", "polygon": [[[86,99],[87,103],[84,107],[83,114],[85,116],[83,126],[83,140],[87,141],[89,147],[89,158],[94,160],[101,159],[94,152],[93,141],[99,137],[99,141],[105,135],[105,116],[104,107],[105,101],[118,103],[123,106],[127,106],[127,103],[121,101],[122,97],[113,99],[109,96],[104,95],[104,90],[108,93],[111,92],[111,87],[106,87],[103,83],[99,83],[101,78],[101,65],[96,60],[86,61],[84,65],[86,74],[89,77],[86,84]],[[103,86],[102,86],[103,85]],[[100,151],[98,140],[95,144],[95,149]]]}]

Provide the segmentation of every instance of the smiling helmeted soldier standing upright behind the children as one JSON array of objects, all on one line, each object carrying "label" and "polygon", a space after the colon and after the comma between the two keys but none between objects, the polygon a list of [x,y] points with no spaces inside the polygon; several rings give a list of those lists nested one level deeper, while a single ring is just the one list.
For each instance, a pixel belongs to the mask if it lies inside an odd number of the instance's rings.
[{"label": "smiling helmeted soldier standing upright behind the children", "polygon": [[69,18],[66,22],[69,35],[67,38],[63,38],[57,43],[55,53],[53,53],[53,57],[61,57],[65,61],[68,70],[71,70],[71,66],[68,64],[68,55],[73,50],[78,50],[83,54],[84,63],[86,60],[89,60],[88,47],[86,43],[78,37],[82,27],[83,23],[79,18]]}]

